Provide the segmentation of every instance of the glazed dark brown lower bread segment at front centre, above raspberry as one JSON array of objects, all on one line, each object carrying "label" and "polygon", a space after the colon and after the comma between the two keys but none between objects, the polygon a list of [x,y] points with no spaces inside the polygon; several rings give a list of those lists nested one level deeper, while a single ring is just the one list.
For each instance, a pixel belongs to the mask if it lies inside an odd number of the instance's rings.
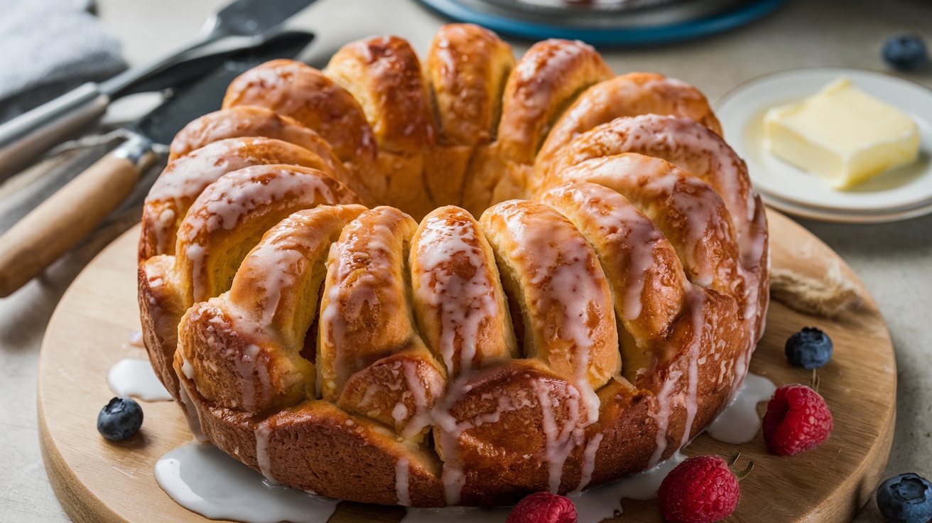
[{"label": "glazed dark brown lower bread segment at front centre, above raspberry", "polygon": [[[496,506],[534,491],[575,489],[598,401],[541,358],[490,367],[451,384],[434,445],[447,504]],[[594,411],[593,408],[596,410]]]}]

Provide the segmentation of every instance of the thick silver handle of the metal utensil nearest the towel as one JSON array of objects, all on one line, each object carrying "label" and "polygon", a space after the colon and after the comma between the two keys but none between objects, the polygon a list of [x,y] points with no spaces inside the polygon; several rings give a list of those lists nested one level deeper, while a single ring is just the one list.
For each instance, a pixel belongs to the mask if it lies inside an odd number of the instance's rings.
[{"label": "thick silver handle of the metal utensil nearest the towel", "polygon": [[110,97],[89,82],[0,125],[0,180],[89,128],[108,103]]}]

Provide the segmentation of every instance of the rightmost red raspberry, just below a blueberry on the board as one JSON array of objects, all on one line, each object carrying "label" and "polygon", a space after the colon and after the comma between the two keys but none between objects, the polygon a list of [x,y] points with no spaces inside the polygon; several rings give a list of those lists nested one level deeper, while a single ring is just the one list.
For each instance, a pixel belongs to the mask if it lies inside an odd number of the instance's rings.
[{"label": "rightmost red raspberry, just below a blueberry on the board", "polygon": [[763,415],[763,440],[775,453],[792,456],[829,439],[829,407],[805,385],[785,385],[774,392]]}]

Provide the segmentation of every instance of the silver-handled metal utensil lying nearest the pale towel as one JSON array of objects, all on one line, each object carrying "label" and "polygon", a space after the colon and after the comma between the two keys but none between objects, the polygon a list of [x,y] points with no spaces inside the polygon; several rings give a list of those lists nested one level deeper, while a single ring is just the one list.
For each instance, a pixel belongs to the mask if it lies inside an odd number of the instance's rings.
[{"label": "silver-handled metal utensil lying nearest the pale towel", "polygon": [[[101,83],[88,82],[51,102],[0,125],[0,180],[17,172],[54,145],[87,129],[107,105],[135,82],[192,58],[199,49],[227,37],[261,44],[283,21],[316,0],[235,0],[212,14],[193,42],[164,59],[133,67]],[[242,46],[243,43],[240,43]]]}]

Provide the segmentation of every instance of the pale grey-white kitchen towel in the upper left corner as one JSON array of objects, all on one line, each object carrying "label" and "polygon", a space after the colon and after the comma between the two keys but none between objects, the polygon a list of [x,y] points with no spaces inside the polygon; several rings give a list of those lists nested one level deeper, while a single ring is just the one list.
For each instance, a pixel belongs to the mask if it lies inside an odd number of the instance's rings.
[{"label": "pale grey-white kitchen towel in the upper left corner", "polygon": [[122,71],[93,0],[0,0],[0,122]]}]

